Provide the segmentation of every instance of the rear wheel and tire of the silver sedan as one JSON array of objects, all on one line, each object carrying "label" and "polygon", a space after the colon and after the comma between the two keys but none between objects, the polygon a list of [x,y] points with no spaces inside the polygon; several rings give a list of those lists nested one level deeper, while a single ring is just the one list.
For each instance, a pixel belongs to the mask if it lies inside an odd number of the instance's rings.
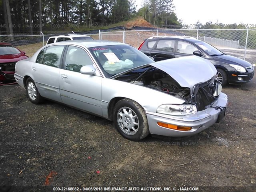
[{"label": "rear wheel and tire of the silver sedan", "polygon": [[26,92],[29,100],[34,104],[40,104],[43,101],[42,96],[36,88],[36,84],[32,78],[28,78],[26,81]]}]

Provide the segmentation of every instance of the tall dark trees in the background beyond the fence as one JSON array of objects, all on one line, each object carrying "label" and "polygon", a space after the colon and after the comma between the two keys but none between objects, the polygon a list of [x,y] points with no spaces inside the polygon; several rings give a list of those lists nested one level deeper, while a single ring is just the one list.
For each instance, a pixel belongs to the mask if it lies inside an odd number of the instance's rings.
[{"label": "tall dark trees in the background beyond the fence", "polygon": [[172,0],[0,0],[0,30],[6,32],[60,30],[106,26],[143,16],[154,25],[181,24]]}]

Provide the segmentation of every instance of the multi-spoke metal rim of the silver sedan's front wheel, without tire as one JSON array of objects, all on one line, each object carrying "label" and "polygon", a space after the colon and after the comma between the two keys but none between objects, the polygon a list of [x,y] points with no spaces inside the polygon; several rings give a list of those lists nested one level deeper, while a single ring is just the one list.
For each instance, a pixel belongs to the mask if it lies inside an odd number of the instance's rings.
[{"label": "multi-spoke metal rim of the silver sedan's front wheel, without tire", "polygon": [[129,107],[122,107],[117,112],[117,122],[127,135],[134,135],[139,130],[139,120],[136,113]]}]

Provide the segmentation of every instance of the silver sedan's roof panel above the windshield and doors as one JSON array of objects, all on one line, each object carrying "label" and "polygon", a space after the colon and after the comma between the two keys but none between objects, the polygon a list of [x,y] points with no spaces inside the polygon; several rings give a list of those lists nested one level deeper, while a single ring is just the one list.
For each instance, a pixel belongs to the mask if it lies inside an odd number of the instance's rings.
[{"label": "silver sedan's roof panel above the windshield and doors", "polygon": [[107,46],[107,45],[128,45],[128,44],[125,44],[125,43],[114,42],[114,41],[106,41],[106,40],[61,41],[61,42],[56,42],[54,44],[49,44],[49,45],[57,45],[57,44],[82,45],[82,46],[85,46],[87,48],[99,47],[99,46]]}]

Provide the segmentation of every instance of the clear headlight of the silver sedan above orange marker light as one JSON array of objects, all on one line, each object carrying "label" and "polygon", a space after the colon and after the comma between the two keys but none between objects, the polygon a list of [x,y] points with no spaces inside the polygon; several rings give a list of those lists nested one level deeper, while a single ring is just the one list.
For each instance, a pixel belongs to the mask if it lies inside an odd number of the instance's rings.
[{"label": "clear headlight of the silver sedan above orange marker light", "polygon": [[160,105],[156,112],[167,114],[167,115],[188,115],[196,113],[196,106],[190,105],[190,104],[184,104],[184,105],[172,105],[172,104],[164,104]]}]

